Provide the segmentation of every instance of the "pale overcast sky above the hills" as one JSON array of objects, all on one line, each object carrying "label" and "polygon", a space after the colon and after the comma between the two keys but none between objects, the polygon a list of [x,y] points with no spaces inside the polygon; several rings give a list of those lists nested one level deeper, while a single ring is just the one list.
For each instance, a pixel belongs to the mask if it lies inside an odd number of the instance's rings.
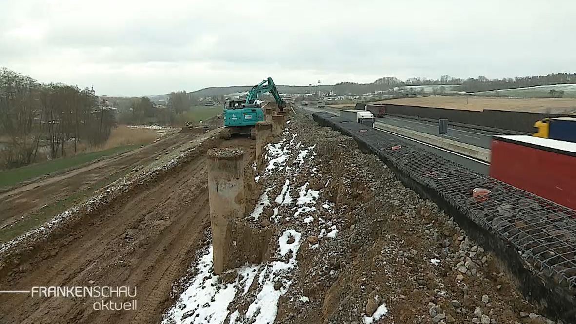
[{"label": "pale overcast sky above the hills", "polygon": [[576,1],[0,0],[0,66],[97,94],[574,72]]}]

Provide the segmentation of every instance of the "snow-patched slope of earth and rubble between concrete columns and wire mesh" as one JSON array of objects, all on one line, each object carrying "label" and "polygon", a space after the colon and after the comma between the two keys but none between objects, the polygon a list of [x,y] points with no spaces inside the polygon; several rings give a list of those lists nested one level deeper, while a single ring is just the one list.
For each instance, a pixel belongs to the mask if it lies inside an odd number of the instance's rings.
[{"label": "snow-patched slope of earth and rubble between concrete columns and wire mesh", "polygon": [[[278,243],[262,265],[245,265],[259,267],[257,279],[222,306],[228,323],[528,323],[538,312],[491,254],[377,157],[307,116],[289,121],[257,170],[267,198],[258,217],[247,212]],[[176,308],[165,323],[182,322]]]}]

